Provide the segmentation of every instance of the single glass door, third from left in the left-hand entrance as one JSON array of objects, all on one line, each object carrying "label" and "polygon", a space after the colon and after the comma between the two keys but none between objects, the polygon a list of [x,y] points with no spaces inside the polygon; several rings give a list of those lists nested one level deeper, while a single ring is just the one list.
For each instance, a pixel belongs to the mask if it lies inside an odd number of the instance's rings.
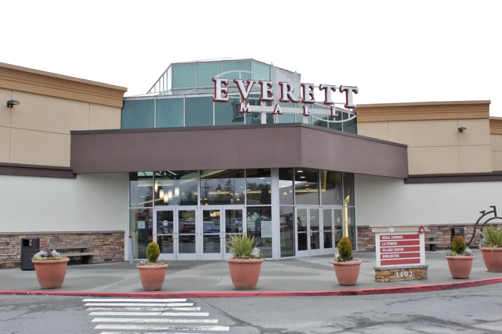
[{"label": "single glass door, third from left in the left-hand entrance", "polygon": [[221,229],[221,207],[202,209],[202,260],[223,259],[223,230]]}]

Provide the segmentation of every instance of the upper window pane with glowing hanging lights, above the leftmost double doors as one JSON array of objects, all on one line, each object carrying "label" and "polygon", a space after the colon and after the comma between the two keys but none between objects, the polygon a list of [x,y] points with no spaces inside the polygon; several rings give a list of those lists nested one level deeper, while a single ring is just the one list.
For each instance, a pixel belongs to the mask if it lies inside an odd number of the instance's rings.
[{"label": "upper window pane with glowing hanging lights, above the leftmost double doors", "polygon": [[155,205],[197,205],[198,172],[155,172]]}]

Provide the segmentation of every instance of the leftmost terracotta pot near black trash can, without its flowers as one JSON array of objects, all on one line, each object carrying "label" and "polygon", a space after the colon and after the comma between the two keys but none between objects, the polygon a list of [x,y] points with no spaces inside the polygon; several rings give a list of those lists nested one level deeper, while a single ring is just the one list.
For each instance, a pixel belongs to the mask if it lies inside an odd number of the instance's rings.
[{"label": "leftmost terracotta pot near black trash can, without its flowers", "polygon": [[61,260],[32,260],[42,289],[57,289],[63,285],[69,258]]}]

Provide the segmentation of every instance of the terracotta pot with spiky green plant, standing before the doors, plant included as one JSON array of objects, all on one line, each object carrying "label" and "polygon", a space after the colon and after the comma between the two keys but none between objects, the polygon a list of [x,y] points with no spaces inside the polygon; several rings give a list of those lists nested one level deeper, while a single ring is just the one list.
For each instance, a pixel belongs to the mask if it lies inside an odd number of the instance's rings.
[{"label": "terracotta pot with spiky green plant, standing before the doors, plant included", "polygon": [[250,238],[246,235],[231,235],[226,243],[226,247],[232,252],[232,257],[226,262],[233,286],[237,290],[256,288],[265,259],[257,245],[255,237]]}]

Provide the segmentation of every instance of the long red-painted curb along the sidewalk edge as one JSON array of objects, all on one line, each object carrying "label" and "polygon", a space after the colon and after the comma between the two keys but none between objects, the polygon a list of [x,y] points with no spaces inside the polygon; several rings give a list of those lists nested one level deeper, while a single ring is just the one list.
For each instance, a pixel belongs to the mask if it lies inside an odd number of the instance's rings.
[{"label": "long red-painted curb along the sidewalk edge", "polygon": [[134,298],[214,298],[214,297],[290,297],[290,296],[355,296],[389,293],[412,293],[440,290],[472,288],[490,284],[502,283],[502,277],[480,280],[462,281],[456,283],[426,284],[415,286],[398,286],[387,288],[370,288],[360,290],[328,290],[328,291],[246,291],[246,292],[99,292],[99,291],[23,291],[0,290],[3,295],[52,295],[52,296],[91,296],[91,297],[134,297]]}]

